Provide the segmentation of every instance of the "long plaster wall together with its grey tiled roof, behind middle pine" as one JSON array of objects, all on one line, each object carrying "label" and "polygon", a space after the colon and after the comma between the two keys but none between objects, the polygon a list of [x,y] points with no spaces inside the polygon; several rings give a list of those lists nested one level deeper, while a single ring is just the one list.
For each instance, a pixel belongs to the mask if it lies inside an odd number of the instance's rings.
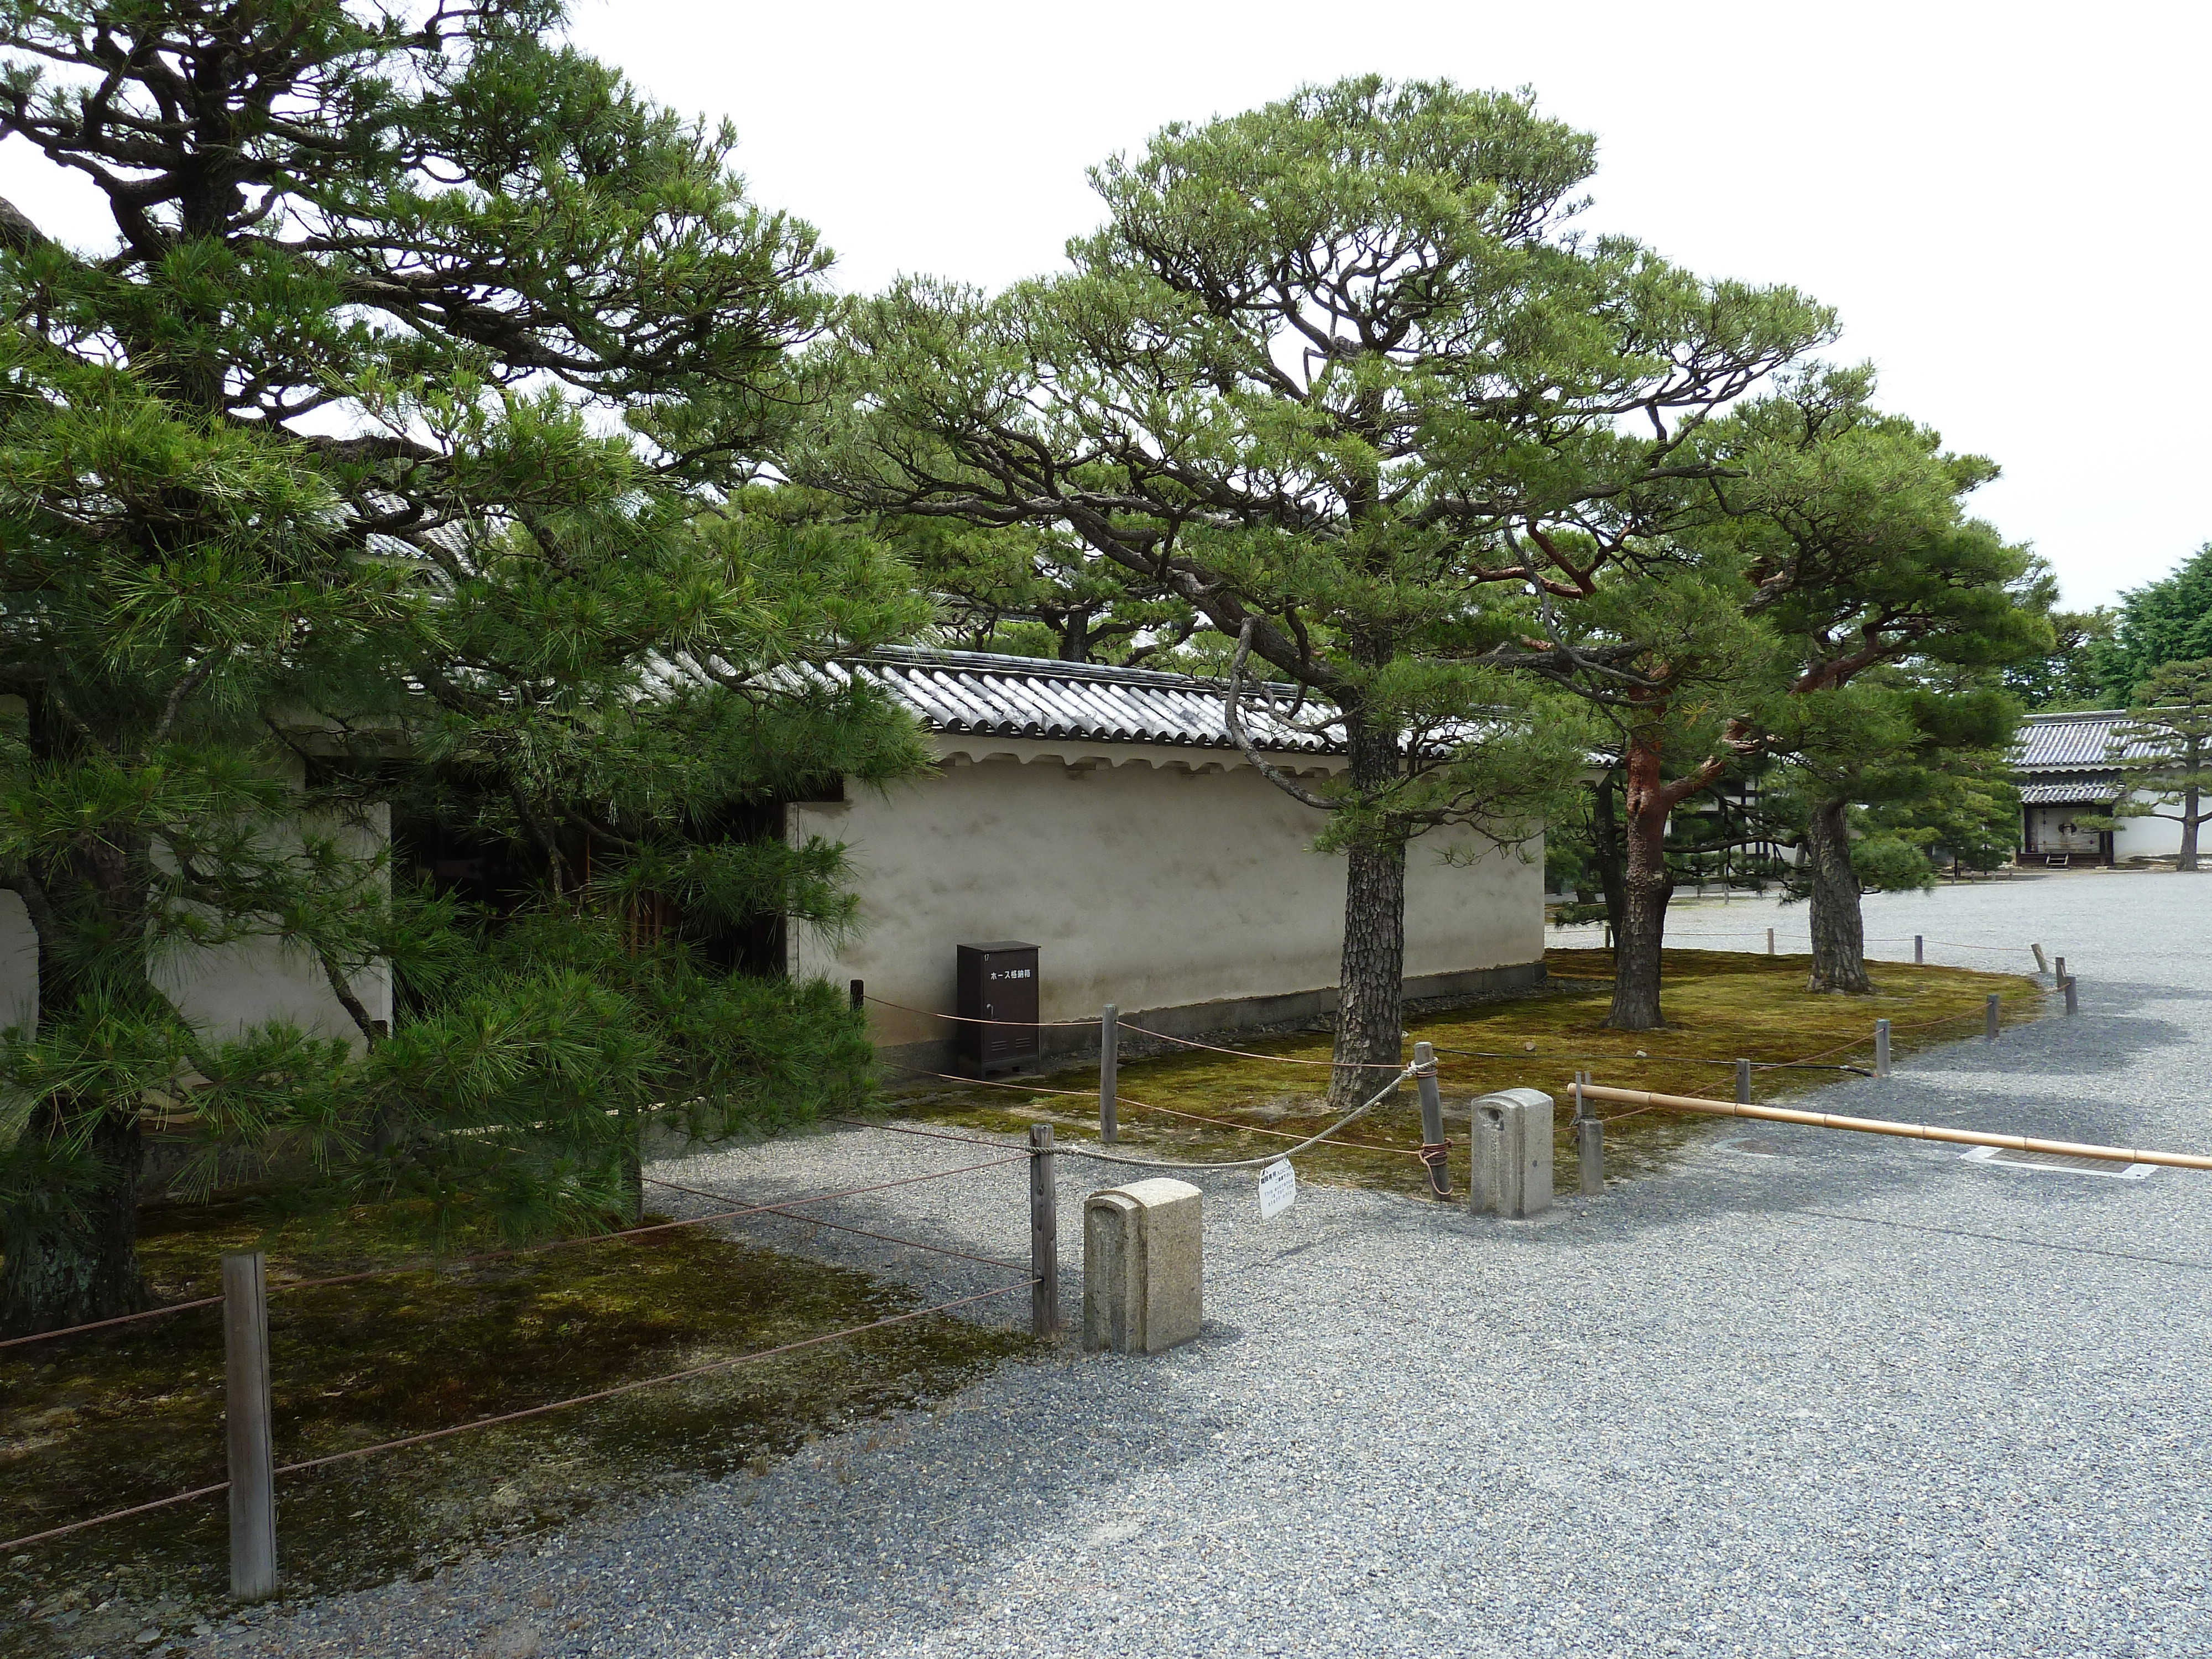
[{"label": "long plaster wall together with its grey tiled roof, behind middle pine", "polygon": [[[880,650],[849,666],[922,721],[931,776],[794,801],[787,834],[852,847],[860,927],[792,931],[792,973],[863,980],[885,1060],[951,1071],[960,945],[1040,947],[1040,1020],[1121,1018],[1175,1035],[1329,1013],[1345,860],[1321,812],[1243,757],[1221,688],[1188,675],[967,650]],[[1345,765],[1314,732],[1248,719],[1274,765]],[[1462,863],[1444,863],[1453,852]],[[1405,991],[1480,995],[1544,980],[1544,854],[1467,830],[1413,841]],[[1093,1029],[1046,1031],[1073,1048]]]}]

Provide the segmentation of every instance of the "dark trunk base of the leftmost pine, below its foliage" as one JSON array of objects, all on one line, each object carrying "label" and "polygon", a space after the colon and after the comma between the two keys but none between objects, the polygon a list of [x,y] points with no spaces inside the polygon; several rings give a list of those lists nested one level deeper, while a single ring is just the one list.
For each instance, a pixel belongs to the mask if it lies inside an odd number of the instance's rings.
[{"label": "dark trunk base of the leftmost pine, below its foliage", "polygon": [[[40,1104],[27,1135],[55,1133],[51,1102]],[[11,1239],[0,1272],[0,1336],[88,1325],[148,1305],[137,1265],[137,1197],[144,1146],[137,1113],[108,1108],[93,1128],[100,1181],[77,1194],[80,1217],[55,1219],[31,1239]]]}]

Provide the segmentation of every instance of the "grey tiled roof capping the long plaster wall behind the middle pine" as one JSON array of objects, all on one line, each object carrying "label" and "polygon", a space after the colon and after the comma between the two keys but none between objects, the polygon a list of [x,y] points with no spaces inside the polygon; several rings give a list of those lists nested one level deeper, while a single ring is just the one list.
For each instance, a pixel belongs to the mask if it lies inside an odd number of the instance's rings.
[{"label": "grey tiled roof capping the long plaster wall behind the middle pine", "polygon": [[[1221,686],[1192,675],[920,646],[883,646],[845,670],[883,686],[933,732],[1237,748],[1221,719]],[[1290,688],[1272,690],[1287,710]],[[1298,723],[1327,714],[1307,701]],[[1270,719],[1250,701],[1243,726],[1270,752],[1343,752],[1340,741]]]}]

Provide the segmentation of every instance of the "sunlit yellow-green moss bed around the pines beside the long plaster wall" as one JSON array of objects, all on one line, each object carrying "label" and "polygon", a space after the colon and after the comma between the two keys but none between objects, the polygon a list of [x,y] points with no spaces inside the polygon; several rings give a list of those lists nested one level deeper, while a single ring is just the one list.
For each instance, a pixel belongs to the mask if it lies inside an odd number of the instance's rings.
[{"label": "sunlit yellow-green moss bed around the pines beside the long plaster wall", "polygon": [[[1606,1031],[1610,951],[1546,951],[1551,987],[1537,995],[1420,1013],[1407,1022],[1416,1037],[1440,1053],[1447,1126],[1467,1121],[1469,1102],[1493,1088],[1535,1086],[1562,1102],[1559,1155],[1571,1155],[1566,1097],[1575,1071],[1619,1088],[1672,1095],[1734,1095],[1736,1057],[1754,1062],[1871,1064],[1874,1022],[1889,1020],[1891,1053],[1902,1057],[1933,1042],[1978,1031],[1984,998],[2002,998],[2004,1020],[2028,1020],[2042,1009],[2035,980],[1949,967],[1876,967],[1876,995],[1812,995],[1805,956],[1750,956],[1741,951],[1668,951],[1668,1029]],[[1121,1062],[1121,1144],[1161,1157],[1256,1157],[1290,1146],[1332,1121],[1323,1086],[1329,1035],[1237,1042],[1267,1057],[1239,1060],[1197,1048]],[[1272,1064],[1270,1064],[1272,1062]],[[1307,1064],[1298,1064],[1307,1062]],[[1803,1095],[1845,1073],[1759,1071],[1752,1099]],[[1097,1073],[1075,1066],[1020,1084],[933,1084],[902,1093],[900,1110],[940,1124],[989,1130],[1026,1130],[1051,1121],[1066,1135],[1097,1135]],[[1066,1093],[1048,1093],[1066,1091]],[[1606,1115],[1621,1108],[1604,1108]],[[1181,1115],[1177,1115],[1181,1113]],[[1194,1121],[1194,1119],[1212,1121]],[[1637,1113],[1606,1130],[1606,1172],[1635,1179],[1666,1166],[1686,1141],[1717,1133],[1717,1121],[1688,1113]],[[1298,1179],[1425,1192],[1427,1177],[1411,1157],[1420,1146],[1413,1091],[1347,1130],[1360,1146],[1327,1144],[1301,1157]],[[1467,1190],[1464,1128],[1458,1141],[1453,1190]],[[1104,1168],[1104,1166],[1102,1166]]]}]

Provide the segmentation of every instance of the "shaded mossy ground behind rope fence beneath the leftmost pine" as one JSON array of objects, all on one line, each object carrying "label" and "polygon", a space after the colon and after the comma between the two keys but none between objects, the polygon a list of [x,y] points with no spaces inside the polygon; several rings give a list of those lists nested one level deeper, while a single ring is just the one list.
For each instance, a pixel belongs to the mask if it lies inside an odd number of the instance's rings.
[{"label": "shaded mossy ground behind rope fence beneath the leftmost pine", "polygon": [[[407,1261],[363,1210],[263,1230],[250,1201],[146,1212],[168,1301],[219,1290],[223,1250],[270,1287]],[[456,1245],[456,1254],[467,1241]],[[672,1230],[478,1267],[272,1294],[276,1460],[316,1458],[836,1332],[920,1305],[867,1274]],[[223,1480],[219,1307],[0,1349],[0,1537]],[[949,1314],[279,1482],[285,1595],[422,1575],[637,1498],[787,1453],[956,1389],[1029,1338]],[[223,1606],[223,1498],[0,1559],[0,1652],[119,1650]],[[102,1608],[102,1604],[106,1604]],[[75,1615],[75,1617],[71,1617]]]}]

